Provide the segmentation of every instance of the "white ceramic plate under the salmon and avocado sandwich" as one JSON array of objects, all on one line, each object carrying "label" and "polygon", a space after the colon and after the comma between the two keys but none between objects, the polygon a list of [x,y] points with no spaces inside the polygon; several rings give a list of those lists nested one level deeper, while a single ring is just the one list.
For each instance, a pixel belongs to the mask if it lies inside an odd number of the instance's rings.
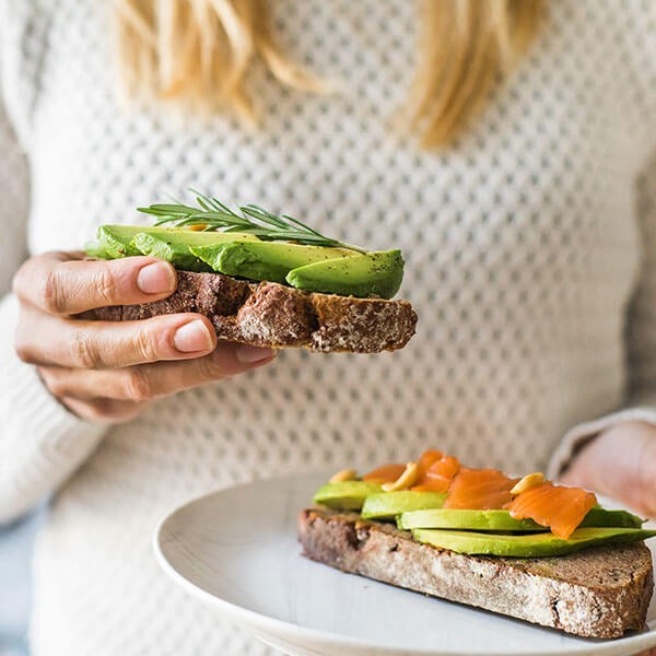
[{"label": "white ceramic plate under the salmon and avocado sandwich", "polygon": [[590,641],[304,559],[296,514],[325,480],[260,481],[181,506],[155,535],[161,566],[218,613],[293,656],[620,656],[656,646],[654,600],[648,631]]}]

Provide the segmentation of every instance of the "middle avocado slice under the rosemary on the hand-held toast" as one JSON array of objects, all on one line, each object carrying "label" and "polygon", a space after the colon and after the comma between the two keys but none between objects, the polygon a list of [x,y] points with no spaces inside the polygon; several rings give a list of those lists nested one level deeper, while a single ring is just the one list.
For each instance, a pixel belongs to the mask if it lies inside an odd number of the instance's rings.
[{"label": "middle avocado slice under the rosemary on the hand-held toast", "polygon": [[312,262],[341,261],[358,256],[347,248],[302,246],[281,242],[213,244],[191,248],[191,253],[214,271],[251,280],[285,282],[292,269]]}]

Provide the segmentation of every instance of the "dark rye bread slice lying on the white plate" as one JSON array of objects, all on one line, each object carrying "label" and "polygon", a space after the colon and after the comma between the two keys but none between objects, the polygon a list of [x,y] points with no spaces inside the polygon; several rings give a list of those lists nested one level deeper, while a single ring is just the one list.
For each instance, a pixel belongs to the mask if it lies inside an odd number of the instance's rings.
[{"label": "dark rye bread slice lying on the white plate", "polygon": [[643,542],[559,558],[465,555],[326,508],[301,512],[298,538],[304,555],[344,572],[585,637],[642,630],[654,588]]}]

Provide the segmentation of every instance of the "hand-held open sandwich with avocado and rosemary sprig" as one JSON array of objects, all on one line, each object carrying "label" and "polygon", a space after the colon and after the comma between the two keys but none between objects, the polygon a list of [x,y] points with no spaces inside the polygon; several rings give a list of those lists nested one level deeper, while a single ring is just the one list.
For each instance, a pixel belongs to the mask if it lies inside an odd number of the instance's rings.
[{"label": "hand-held open sandwich with avocado and rosemary sprig", "polygon": [[399,250],[367,251],[257,206],[235,212],[202,195],[197,202],[140,208],[157,218],[153,227],[98,229],[89,256],[165,259],[178,288],[163,301],[94,311],[96,318],[198,312],[220,339],[319,352],[394,351],[414,335],[410,303],[390,300],[403,277]]}]

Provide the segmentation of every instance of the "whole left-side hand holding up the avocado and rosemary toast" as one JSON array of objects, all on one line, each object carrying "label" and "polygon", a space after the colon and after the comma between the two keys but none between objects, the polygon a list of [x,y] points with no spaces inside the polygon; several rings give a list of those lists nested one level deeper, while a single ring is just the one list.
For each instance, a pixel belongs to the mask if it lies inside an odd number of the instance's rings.
[{"label": "whole left-side hand holding up the avocado and rosemary toast", "polygon": [[177,286],[175,269],[152,257],[89,261],[82,254],[28,259],[14,278],[21,305],[15,350],[48,390],[79,417],[116,423],[152,399],[270,362],[269,349],[216,343],[195,313],[134,321],[86,320],[108,305],[150,303]]}]

